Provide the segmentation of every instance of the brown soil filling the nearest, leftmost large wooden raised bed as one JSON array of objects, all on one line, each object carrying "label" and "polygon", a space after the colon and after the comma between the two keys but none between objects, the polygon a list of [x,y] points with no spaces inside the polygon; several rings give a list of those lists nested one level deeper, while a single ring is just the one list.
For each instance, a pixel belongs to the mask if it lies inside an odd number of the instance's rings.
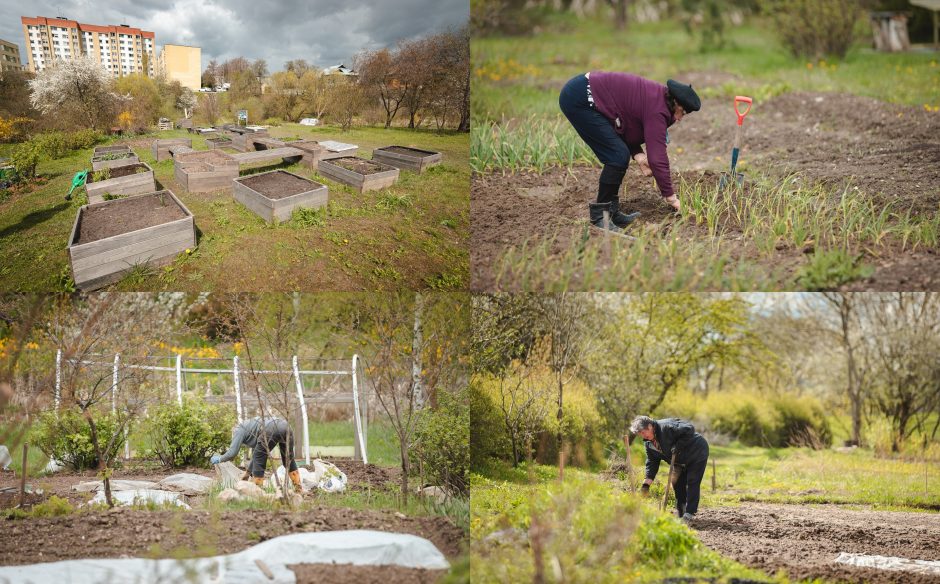
[{"label": "brown soil filling the nearest, leftmost large wooden raised bed", "polygon": [[106,201],[82,211],[77,241],[74,243],[90,243],[184,217],[186,213],[169,194],[138,195]]}]

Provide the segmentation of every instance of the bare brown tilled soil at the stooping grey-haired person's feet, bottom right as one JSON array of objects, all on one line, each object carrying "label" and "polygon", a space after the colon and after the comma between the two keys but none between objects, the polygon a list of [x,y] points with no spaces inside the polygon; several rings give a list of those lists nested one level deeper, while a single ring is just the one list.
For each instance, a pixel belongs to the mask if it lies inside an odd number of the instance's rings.
[{"label": "bare brown tilled soil at the stooping grey-haired person's feet, bottom right", "polygon": [[850,511],[835,505],[744,503],[704,508],[695,531],[708,547],[770,574],[839,582],[940,582],[940,576],[843,566],[840,552],[940,560],[940,515]]}]

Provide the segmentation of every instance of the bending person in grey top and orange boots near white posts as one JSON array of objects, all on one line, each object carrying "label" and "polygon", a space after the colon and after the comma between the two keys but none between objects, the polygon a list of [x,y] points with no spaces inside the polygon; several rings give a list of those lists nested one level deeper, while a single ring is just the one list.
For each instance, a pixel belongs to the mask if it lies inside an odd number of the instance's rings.
[{"label": "bending person in grey top and orange boots near white posts", "polygon": [[247,475],[251,475],[256,485],[264,483],[264,469],[268,464],[268,453],[277,445],[281,453],[281,461],[290,471],[288,476],[294,483],[294,490],[301,491],[300,471],[294,462],[294,435],[290,432],[287,420],[283,418],[251,418],[235,426],[232,434],[232,444],[225,454],[215,454],[209,459],[212,464],[219,464],[232,460],[238,455],[242,446],[252,449],[251,463],[248,465]]}]

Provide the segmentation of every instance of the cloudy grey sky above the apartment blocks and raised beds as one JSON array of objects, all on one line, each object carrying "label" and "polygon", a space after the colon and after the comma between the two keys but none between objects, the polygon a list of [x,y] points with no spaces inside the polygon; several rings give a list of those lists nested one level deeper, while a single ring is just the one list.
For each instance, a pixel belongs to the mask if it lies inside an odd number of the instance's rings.
[{"label": "cloudy grey sky above the apartment blocks and raised beds", "polygon": [[363,49],[459,28],[469,6],[468,0],[0,0],[0,38],[20,47],[25,64],[21,16],[129,24],[155,33],[157,54],[164,44],[191,45],[202,48],[203,69],[210,59],[242,56],[264,59],[274,72],[290,59],[349,65]]}]

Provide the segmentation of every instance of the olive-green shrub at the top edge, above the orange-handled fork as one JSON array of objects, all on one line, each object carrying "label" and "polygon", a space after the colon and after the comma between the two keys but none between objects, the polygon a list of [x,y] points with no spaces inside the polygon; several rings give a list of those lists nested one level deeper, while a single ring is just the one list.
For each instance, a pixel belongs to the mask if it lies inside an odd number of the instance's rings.
[{"label": "olive-green shrub at the top edge, above the orange-handled fork", "polygon": [[842,59],[852,46],[858,0],[766,0],[774,30],[797,58]]}]

